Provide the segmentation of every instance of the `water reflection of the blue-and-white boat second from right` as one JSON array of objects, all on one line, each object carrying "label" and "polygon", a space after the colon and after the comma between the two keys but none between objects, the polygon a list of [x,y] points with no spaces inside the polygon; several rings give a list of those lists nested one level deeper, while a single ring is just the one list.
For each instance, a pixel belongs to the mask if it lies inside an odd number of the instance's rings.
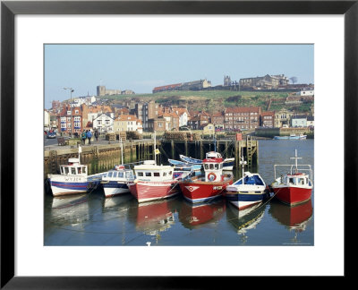
[{"label": "water reflection of the blue-and-white boat second from right", "polygon": [[266,204],[255,204],[250,208],[239,210],[231,203],[226,210],[226,220],[234,227],[237,235],[240,235],[242,243],[246,243],[248,230],[255,229],[264,217]]}]

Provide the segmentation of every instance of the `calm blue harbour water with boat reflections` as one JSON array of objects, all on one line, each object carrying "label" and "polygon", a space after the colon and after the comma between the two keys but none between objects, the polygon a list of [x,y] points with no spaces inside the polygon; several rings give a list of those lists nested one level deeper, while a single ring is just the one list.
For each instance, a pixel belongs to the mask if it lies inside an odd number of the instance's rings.
[{"label": "calm blue harbour water with boat reflections", "polygon": [[[252,172],[272,183],[274,165],[292,164],[294,149],[303,158],[299,164],[310,164],[314,174],[314,140],[261,140]],[[234,171],[236,179],[240,172]],[[46,194],[44,207],[45,245],[314,245],[314,189],[299,206],[272,199],[241,211],[225,199],[192,205],[179,194],[139,204],[130,193],[106,199],[100,190],[64,198]]]}]

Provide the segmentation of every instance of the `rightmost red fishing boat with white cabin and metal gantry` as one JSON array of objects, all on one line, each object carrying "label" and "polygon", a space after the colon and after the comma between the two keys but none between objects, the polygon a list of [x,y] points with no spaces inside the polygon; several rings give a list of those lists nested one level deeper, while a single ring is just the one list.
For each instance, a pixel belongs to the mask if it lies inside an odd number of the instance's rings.
[{"label": "rightmost red fishing boat with white cabin and metal gantry", "polygon": [[[313,188],[311,165],[297,163],[297,149],[294,150],[294,165],[274,165],[275,181],[270,184],[275,197],[291,206],[311,199]],[[288,166],[290,171],[277,178],[277,166]]]}]

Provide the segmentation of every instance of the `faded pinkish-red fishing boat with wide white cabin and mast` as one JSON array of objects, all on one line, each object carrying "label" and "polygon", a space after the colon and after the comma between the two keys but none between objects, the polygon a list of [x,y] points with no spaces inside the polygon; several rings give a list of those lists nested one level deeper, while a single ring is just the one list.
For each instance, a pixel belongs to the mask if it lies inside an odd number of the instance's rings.
[{"label": "faded pinkish-red fishing boat with wide white cabin and mast", "polygon": [[[154,144],[156,144],[154,134]],[[166,199],[178,192],[177,181],[175,180],[174,166],[157,165],[154,150],[154,160],[146,160],[143,164],[134,166],[136,179],[129,183],[132,195],[138,202]]]}]

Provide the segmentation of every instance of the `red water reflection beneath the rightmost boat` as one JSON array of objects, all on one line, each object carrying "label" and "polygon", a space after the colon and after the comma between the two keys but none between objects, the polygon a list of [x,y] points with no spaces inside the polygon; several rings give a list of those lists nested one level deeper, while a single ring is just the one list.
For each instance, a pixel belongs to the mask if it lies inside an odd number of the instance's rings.
[{"label": "red water reflection beneath the rightmost boat", "polygon": [[268,213],[275,218],[279,224],[286,226],[289,231],[294,231],[293,243],[298,243],[298,234],[306,230],[311,220],[313,208],[312,201],[308,200],[302,204],[291,207],[279,200],[271,200]]}]

